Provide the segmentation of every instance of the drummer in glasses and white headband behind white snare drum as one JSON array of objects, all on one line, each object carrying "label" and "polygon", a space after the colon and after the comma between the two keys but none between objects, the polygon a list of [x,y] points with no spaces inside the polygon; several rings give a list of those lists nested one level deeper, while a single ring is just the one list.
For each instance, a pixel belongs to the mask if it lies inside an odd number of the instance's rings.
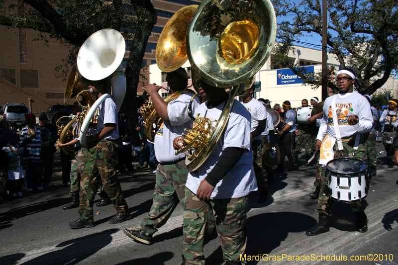
[{"label": "drummer in glasses and white headband behind white snare drum", "polygon": [[[364,96],[353,91],[355,74],[350,69],[337,73],[339,93],[326,98],[323,104],[323,120],[316,137],[316,150],[320,149],[319,164],[326,165],[333,158],[340,156],[364,160],[366,150],[360,133],[370,131],[373,124],[369,102]],[[368,107],[367,107],[368,106]],[[339,137],[340,136],[340,137]],[[340,150],[340,151],[339,151]],[[327,185],[325,170],[321,173],[321,186],[318,197],[318,223],[306,231],[307,236],[316,236],[329,231],[329,216],[332,214],[333,200],[325,195]],[[356,231],[368,231],[368,220],[364,212],[366,204],[348,203],[355,213]]]}]

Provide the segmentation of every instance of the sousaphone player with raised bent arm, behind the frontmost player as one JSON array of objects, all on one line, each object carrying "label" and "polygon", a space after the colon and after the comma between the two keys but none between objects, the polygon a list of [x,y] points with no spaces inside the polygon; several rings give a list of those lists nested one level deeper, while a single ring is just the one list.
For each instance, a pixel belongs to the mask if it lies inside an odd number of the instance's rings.
[{"label": "sousaphone player with raised bent arm, behind the frontmost player", "polygon": [[[188,74],[184,68],[167,73],[166,80],[170,92],[181,92],[188,86]],[[185,184],[189,173],[185,165],[186,155],[175,155],[173,139],[182,134],[184,129],[191,128],[192,120],[187,110],[194,93],[184,93],[166,103],[160,97],[159,89],[155,84],[144,88],[151,95],[153,106],[163,121],[155,135],[154,148],[159,164],[156,170],[153,203],[148,216],[141,221],[141,227],[123,230],[126,236],[146,245],[152,244],[153,235],[167,222],[177,205],[180,202],[184,205]],[[193,111],[197,106],[198,98],[193,101]],[[209,237],[214,228],[213,216],[210,215],[208,220]]]}]

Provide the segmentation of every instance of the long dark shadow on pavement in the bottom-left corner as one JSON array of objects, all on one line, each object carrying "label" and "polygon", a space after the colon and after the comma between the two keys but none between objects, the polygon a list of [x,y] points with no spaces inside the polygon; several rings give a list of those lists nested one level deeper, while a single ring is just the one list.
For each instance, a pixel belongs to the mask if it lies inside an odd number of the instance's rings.
[{"label": "long dark shadow on pavement in the bottom-left corner", "polygon": [[[109,229],[102,231],[100,233],[65,241],[55,246],[55,248],[61,248],[61,247],[65,248],[43,254],[22,264],[24,265],[78,264],[87,259],[88,257],[96,254],[102,248],[106,247],[112,241],[111,235],[116,233],[117,231],[119,230]],[[5,256],[0,258],[0,264],[15,264],[23,257],[25,257],[25,254],[23,253]]]}]

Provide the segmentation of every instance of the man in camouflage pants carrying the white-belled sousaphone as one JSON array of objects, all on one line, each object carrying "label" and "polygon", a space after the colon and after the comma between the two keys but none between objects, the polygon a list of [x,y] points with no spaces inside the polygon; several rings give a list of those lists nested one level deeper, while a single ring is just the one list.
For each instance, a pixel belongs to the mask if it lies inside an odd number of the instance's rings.
[{"label": "man in camouflage pants carrying the white-belled sousaphone", "polygon": [[[106,79],[88,82],[89,88],[93,89],[93,94],[97,97],[106,93]],[[119,134],[116,104],[111,97],[102,102],[97,113],[98,129],[89,130],[91,134],[86,136],[89,147],[82,149],[85,156],[85,167],[80,181],[80,218],[68,224],[72,229],[94,227],[93,204],[101,183],[117,211],[109,223],[118,224],[131,218],[127,203],[123,198],[120,182],[117,179],[119,166],[116,139]]]}]

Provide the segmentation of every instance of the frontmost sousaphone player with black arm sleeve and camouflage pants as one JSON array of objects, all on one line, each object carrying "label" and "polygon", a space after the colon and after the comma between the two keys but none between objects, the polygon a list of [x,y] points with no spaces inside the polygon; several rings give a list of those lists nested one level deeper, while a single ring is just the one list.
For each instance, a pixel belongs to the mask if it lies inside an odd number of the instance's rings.
[{"label": "frontmost sousaphone player with black arm sleeve and camouflage pants", "polygon": [[[225,89],[200,81],[199,93],[207,101],[195,111],[195,117],[214,121],[220,117],[228,99]],[[257,190],[250,137],[251,115],[235,100],[228,124],[209,157],[198,170],[190,172],[184,204],[184,262],[204,265],[203,245],[206,215],[214,212],[227,265],[240,265],[246,249],[246,209],[249,193]],[[214,124],[214,123],[213,123]],[[194,124],[195,126],[195,124]],[[181,139],[174,148],[179,150]]]}]

